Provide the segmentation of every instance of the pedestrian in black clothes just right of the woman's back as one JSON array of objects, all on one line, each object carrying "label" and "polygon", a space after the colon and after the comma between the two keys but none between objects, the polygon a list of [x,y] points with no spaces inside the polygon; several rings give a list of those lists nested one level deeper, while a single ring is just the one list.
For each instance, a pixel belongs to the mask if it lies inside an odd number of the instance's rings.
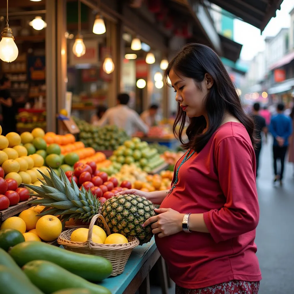
[{"label": "pedestrian in black clothes just right of the woman's back", "polygon": [[268,133],[268,128],[266,127],[266,123],[265,123],[265,118],[259,115],[259,111],[260,111],[260,104],[254,103],[253,118],[254,118],[255,128],[256,128],[256,136],[259,140],[259,142],[256,144],[254,148],[255,158],[256,158],[256,177],[258,176],[259,155],[260,155],[261,146],[262,146],[261,132],[265,134],[266,139],[267,139],[267,133]]}]

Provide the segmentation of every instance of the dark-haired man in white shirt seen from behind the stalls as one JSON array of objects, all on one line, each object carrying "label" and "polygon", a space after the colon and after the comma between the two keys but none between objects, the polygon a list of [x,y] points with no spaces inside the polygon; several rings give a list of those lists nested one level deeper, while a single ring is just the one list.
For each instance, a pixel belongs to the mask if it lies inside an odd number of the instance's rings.
[{"label": "dark-haired man in white shirt seen from behind the stalls", "polygon": [[94,125],[115,125],[123,128],[128,136],[132,136],[138,130],[147,134],[148,126],[142,121],[136,111],[128,107],[129,100],[130,96],[128,94],[118,94],[118,105],[107,109],[102,118]]}]

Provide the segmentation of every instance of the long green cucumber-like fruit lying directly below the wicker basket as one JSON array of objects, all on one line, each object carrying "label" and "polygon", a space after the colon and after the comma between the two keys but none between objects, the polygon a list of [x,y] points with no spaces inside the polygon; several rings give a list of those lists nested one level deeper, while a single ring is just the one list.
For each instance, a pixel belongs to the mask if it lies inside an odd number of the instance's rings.
[{"label": "long green cucumber-like fruit lying directly below the wicker basket", "polygon": [[9,250],[9,254],[20,267],[31,260],[47,260],[92,282],[102,281],[112,272],[111,262],[104,257],[76,253],[44,242],[17,244]]}]

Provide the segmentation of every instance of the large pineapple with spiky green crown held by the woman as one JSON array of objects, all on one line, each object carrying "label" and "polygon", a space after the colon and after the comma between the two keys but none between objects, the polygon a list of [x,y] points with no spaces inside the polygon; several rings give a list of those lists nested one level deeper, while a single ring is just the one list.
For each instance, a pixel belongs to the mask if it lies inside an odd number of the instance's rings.
[{"label": "large pineapple with spiky green crown held by the woman", "polygon": [[75,181],[70,183],[63,170],[61,179],[50,170],[50,177],[39,171],[45,181],[41,181],[41,187],[25,185],[42,198],[31,203],[46,207],[38,216],[60,215],[64,223],[70,218],[89,223],[95,214],[100,213],[111,233],[121,233],[126,238],[137,237],[140,245],[150,241],[153,235],[151,225],[143,228],[142,224],[156,214],[151,201],[138,195],[121,195],[101,204],[90,190],[82,187],[80,191]]}]

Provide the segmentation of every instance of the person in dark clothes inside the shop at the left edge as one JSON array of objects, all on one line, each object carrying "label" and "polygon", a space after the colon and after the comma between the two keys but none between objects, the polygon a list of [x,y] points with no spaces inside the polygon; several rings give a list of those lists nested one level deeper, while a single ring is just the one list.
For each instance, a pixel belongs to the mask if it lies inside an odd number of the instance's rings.
[{"label": "person in dark clothes inside the shop at the left edge", "polygon": [[16,105],[14,99],[11,97],[9,89],[11,88],[11,81],[6,76],[0,80],[0,103],[2,107],[2,135],[10,132],[16,132]]}]

